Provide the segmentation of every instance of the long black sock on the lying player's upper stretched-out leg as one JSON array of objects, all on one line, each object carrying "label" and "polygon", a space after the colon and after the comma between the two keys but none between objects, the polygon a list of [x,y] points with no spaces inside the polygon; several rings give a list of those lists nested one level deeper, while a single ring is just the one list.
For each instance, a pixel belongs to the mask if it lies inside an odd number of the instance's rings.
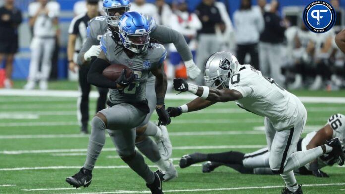
[{"label": "long black sock on the lying player's upper stretched-out leg", "polygon": [[243,165],[243,158],[244,158],[244,153],[237,152],[237,151],[207,154],[207,160],[211,162],[221,162],[225,164]]}]

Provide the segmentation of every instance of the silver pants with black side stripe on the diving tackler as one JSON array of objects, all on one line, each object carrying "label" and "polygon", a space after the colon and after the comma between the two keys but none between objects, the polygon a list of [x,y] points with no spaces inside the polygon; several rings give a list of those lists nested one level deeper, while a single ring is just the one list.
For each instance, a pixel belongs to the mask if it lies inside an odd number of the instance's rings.
[{"label": "silver pants with black side stripe on the diving tackler", "polygon": [[274,173],[283,173],[288,158],[297,148],[297,143],[307,121],[307,111],[303,104],[298,108],[298,116],[290,129],[276,131],[270,120],[265,118],[266,140],[270,151],[268,161]]}]

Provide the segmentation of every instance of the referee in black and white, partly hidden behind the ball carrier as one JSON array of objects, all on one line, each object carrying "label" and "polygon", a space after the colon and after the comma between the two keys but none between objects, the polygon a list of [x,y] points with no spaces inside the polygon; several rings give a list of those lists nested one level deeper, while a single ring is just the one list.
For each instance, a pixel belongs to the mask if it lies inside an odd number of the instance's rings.
[{"label": "referee in black and white, partly hidden behind the ball carrier", "polygon": [[[78,121],[81,124],[81,133],[88,133],[88,121],[89,121],[89,93],[91,85],[87,83],[87,73],[90,69],[90,63],[86,65],[78,66],[76,64],[77,55],[82,48],[83,43],[86,40],[86,28],[88,22],[96,17],[100,16],[98,12],[98,0],[86,0],[87,12],[80,14],[73,18],[69,26],[69,38],[68,38],[68,63],[69,69],[76,72],[79,69],[79,86],[81,90],[81,97],[78,98]],[[96,112],[105,108],[108,89],[97,88],[100,96],[97,100]]]}]

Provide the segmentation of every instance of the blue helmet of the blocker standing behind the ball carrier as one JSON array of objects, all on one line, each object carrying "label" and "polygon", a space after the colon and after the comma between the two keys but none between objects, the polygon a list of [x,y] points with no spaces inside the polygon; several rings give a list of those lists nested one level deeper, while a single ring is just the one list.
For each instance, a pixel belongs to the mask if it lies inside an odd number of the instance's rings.
[{"label": "blue helmet of the blocker standing behind the ball carrier", "polygon": [[129,11],[129,8],[129,0],[103,0],[106,21],[114,27],[118,26],[118,20],[125,12]]}]

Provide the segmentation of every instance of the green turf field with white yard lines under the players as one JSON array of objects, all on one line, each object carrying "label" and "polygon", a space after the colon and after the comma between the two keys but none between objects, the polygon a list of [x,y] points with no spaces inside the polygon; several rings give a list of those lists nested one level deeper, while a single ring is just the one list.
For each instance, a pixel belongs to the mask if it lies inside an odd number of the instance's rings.
[{"label": "green turf field with white yard lines under the players", "polygon": [[[345,97],[344,91],[297,93]],[[185,102],[168,100],[166,105]],[[305,103],[306,132],[323,126],[334,113],[345,114],[345,104],[321,102]],[[92,99],[90,115],[94,107]],[[152,120],[157,120],[157,115]],[[262,127],[263,118],[239,109],[234,103],[220,103],[199,113],[173,118],[168,130],[174,146],[174,164],[178,164],[182,155],[195,151],[255,151],[266,145]],[[116,157],[109,138],[96,163],[98,168],[93,171],[92,184],[82,189],[67,184],[65,178],[84,163],[87,142],[88,136],[79,134],[75,98],[0,96],[0,193],[148,193],[144,181]],[[284,186],[279,176],[242,175],[227,167],[208,174],[201,172],[200,165],[177,170],[179,177],[163,185],[168,194],[278,194]],[[345,168],[334,166],[324,171],[330,178],[297,176],[298,183],[304,185],[304,193],[344,194]]]}]

